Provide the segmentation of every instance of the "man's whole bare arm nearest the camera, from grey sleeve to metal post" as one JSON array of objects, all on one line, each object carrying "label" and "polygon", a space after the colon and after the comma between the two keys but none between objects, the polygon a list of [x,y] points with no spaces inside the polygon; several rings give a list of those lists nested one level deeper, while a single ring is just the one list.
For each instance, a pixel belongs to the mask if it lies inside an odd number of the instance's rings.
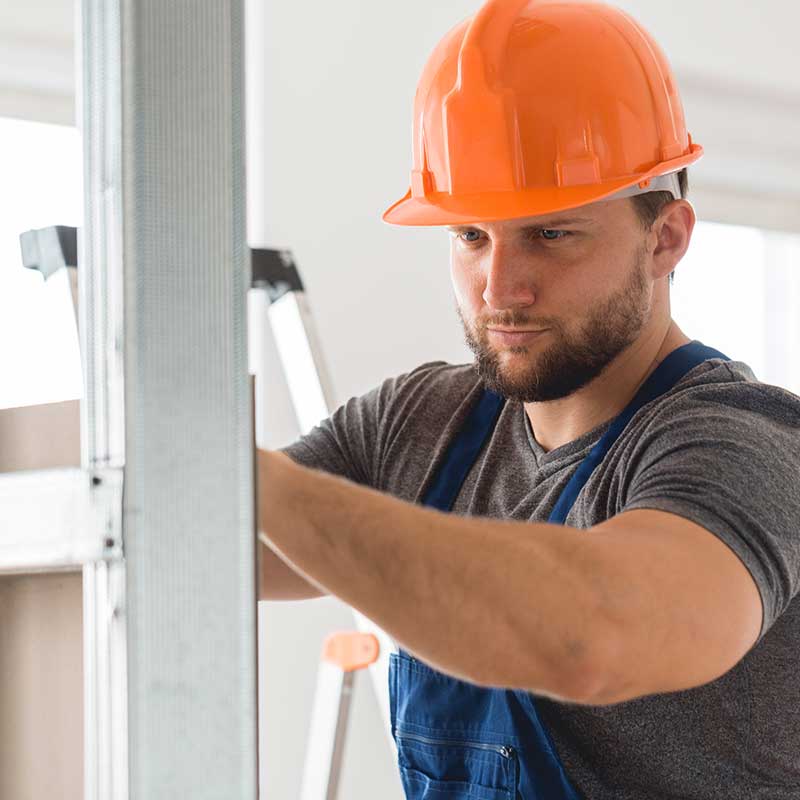
[{"label": "man's whole bare arm nearest the camera, from grey sleeve to metal post", "polygon": [[659,511],[591,531],[443,514],[258,452],[259,529],[404,649],[474,683],[607,705],[721,676],[756,640],[747,569]]}]

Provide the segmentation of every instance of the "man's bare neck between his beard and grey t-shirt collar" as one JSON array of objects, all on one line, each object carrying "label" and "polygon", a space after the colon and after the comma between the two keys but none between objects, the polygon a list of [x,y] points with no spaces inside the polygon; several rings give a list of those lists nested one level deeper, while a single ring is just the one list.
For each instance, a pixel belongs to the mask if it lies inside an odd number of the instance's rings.
[{"label": "man's bare neck between his beard and grey t-shirt collar", "polygon": [[536,441],[545,452],[578,439],[621,413],[650,373],[675,349],[691,341],[669,321],[666,331],[645,334],[601,375],[562,400],[526,403]]}]

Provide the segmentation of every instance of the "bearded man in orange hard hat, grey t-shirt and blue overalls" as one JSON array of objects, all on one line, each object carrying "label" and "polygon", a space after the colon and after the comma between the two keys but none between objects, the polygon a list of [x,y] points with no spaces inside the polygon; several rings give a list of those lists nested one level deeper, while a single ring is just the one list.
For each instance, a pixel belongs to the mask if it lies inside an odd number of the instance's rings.
[{"label": "bearded man in orange hard hat, grey t-shirt and blue overalls", "polygon": [[474,364],[258,451],[262,596],[397,642],[412,800],[800,797],[800,398],[671,318],[701,154],[610,6],[490,0],[423,71],[384,218],[448,228]]}]

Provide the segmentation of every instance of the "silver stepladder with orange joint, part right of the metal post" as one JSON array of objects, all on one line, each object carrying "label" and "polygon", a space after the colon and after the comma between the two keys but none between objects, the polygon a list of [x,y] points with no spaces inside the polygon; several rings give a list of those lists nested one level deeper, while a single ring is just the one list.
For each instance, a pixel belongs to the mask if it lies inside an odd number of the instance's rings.
[{"label": "silver stepladder with orange joint, part right of the metal post", "polygon": [[[252,250],[253,291],[263,292],[266,313],[291,394],[300,432],[307,433],[336,409],[322,349],[297,266],[289,250]],[[254,334],[256,338],[266,332]],[[258,390],[259,376],[256,375]],[[331,634],[323,645],[303,771],[301,800],[336,800],[355,677],[369,669],[392,752],[389,654],[392,639],[352,609],[357,631]]]}]

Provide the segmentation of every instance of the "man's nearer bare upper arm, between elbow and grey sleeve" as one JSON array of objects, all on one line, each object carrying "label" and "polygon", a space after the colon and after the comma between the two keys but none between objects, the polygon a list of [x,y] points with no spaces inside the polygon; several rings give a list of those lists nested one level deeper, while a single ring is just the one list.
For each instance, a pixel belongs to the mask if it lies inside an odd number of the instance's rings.
[{"label": "man's nearer bare upper arm, between elbow and grey sleeve", "polygon": [[654,509],[591,529],[616,658],[595,705],[710,683],[758,639],[761,595],[736,553],[701,525]]}]

